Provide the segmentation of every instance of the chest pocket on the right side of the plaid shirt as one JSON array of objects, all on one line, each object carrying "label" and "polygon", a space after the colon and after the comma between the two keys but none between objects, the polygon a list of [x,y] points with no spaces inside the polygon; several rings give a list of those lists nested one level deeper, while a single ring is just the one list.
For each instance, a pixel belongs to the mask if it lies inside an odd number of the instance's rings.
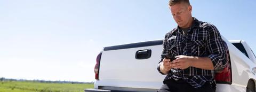
[{"label": "chest pocket on the right side of the plaid shirt", "polygon": [[193,56],[205,57],[206,52],[206,41],[204,40],[193,40],[191,53]]}]

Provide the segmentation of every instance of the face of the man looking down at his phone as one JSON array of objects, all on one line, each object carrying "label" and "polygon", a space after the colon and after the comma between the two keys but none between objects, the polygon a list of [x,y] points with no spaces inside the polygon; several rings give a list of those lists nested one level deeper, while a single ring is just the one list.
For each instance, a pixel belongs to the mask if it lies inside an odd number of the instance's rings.
[{"label": "face of the man looking down at his phone", "polygon": [[192,7],[191,5],[188,5],[186,3],[178,3],[174,4],[172,6],[169,6],[173,19],[175,22],[181,27],[181,28],[188,28],[190,26],[190,19],[192,17],[191,11]]}]

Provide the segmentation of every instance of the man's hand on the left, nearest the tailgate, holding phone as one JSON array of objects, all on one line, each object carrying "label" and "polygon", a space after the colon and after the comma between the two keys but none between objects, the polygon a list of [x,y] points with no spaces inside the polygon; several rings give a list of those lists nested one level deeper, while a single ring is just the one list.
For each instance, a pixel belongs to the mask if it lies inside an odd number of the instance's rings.
[{"label": "man's hand on the left, nearest the tailgate, holding phone", "polygon": [[160,66],[161,72],[167,74],[167,73],[172,69],[171,63],[172,63],[172,62],[171,62],[170,59],[164,58],[164,59],[163,59],[163,62],[162,62],[162,64],[161,64],[161,66]]}]

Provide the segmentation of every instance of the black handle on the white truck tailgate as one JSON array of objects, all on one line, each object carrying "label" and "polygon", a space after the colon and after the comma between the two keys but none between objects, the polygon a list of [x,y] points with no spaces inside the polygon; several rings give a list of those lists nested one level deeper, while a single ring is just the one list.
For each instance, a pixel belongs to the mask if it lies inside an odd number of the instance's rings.
[{"label": "black handle on the white truck tailgate", "polygon": [[135,58],[136,59],[148,59],[151,57],[151,50],[146,49],[146,50],[138,50],[135,53]]}]

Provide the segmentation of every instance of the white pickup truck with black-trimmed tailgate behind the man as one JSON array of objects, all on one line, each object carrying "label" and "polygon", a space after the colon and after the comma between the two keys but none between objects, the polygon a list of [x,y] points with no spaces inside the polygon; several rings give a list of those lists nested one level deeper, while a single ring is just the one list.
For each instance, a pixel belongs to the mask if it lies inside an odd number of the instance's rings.
[{"label": "white pickup truck with black-trimmed tailgate behind the man", "polygon": [[[216,91],[255,92],[256,58],[249,45],[243,40],[222,39],[228,48],[228,66],[215,75]],[[162,43],[155,40],[103,48],[94,69],[94,89],[85,91],[157,91],[165,78],[156,69]]]}]

